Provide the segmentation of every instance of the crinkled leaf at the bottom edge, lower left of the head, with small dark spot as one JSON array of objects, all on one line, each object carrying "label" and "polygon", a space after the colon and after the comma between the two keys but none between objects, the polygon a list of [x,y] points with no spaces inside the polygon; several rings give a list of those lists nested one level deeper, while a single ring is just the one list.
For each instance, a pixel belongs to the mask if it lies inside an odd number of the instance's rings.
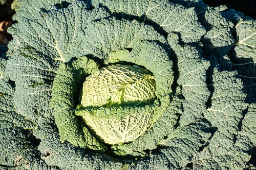
[{"label": "crinkled leaf at the bottom edge, lower left of the head, with small dark spot", "polygon": [[126,165],[125,162],[115,161],[104,153],[81,149],[68,142],[61,143],[58,129],[47,118],[41,117],[38,127],[33,135],[41,139],[38,149],[49,166],[71,170],[120,170]]}]

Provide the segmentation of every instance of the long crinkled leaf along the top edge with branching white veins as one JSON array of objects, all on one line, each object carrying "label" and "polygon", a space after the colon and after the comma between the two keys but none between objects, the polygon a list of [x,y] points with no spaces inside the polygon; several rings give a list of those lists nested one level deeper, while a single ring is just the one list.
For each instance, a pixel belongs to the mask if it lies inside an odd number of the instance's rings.
[{"label": "long crinkled leaf along the top edge with branching white veins", "polygon": [[196,42],[205,34],[193,8],[169,0],[92,0],[93,6],[97,4],[106,6],[114,16],[137,19],[166,33],[178,32],[184,42]]}]

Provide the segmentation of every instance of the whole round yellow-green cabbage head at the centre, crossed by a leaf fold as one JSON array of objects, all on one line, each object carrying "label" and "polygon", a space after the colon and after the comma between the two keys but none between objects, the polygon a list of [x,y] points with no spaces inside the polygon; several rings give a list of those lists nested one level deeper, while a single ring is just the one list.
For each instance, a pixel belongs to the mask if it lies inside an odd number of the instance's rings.
[{"label": "whole round yellow-green cabbage head at the centre, crossed by a leaf fold", "polygon": [[[85,79],[76,115],[105,143],[128,143],[149,129],[156,98],[153,75],[138,66],[111,65]],[[139,111],[137,111],[139,109]]]}]

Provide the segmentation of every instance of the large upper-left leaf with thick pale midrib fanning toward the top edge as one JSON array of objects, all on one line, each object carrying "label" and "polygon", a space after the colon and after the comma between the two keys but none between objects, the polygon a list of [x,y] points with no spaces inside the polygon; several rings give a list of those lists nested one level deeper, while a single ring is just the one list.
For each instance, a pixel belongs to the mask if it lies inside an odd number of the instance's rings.
[{"label": "large upper-left leaf with thick pale midrib fanning toward the top edge", "polygon": [[[86,53],[81,49],[83,42],[75,41],[75,39],[79,37],[89,22],[108,16],[103,8],[96,7],[89,11],[87,3],[79,0],[72,4],[68,3],[66,8],[55,8],[49,11],[36,10],[38,12],[35,14],[30,13],[30,11],[35,11],[30,9],[31,7],[41,6],[41,1],[37,0],[36,2],[39,4],[35,6],[32,5],[34,1],[25,2],[23,6],[26,8],[22,8],[15,17],[22,22],[15,24],[9,31],[14,35],[14,40],[10,45],[13,47],[12,51],[18,47],[30,46],[30,48],[43,51],[48,58],[62,62],[69,61],[75,56],[84,56]],[[48,3],[54,4],[50,1]],[[47,8],[47,3],[41,7]]]}]

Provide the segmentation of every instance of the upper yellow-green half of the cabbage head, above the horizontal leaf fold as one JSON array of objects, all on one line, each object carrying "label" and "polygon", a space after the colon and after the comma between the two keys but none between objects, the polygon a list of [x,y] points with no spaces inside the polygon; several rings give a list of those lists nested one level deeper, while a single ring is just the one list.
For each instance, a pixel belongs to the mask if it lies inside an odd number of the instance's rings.
[{"label": "upper yellow-green half of the cabbage head, above the horizontal leaf fold", "polygon": [[81,96],[84,107],[150,104],[156,98],[155,81],[136,65],[111,65],[86,78]]}]

